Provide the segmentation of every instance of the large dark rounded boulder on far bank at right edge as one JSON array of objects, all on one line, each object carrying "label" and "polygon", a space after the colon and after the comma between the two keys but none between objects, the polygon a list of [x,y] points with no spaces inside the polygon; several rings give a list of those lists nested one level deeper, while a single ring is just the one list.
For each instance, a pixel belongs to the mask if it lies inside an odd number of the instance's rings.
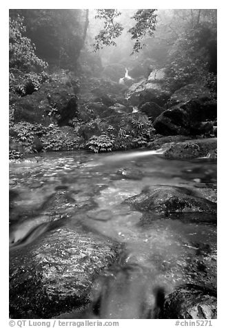
[{"label": "large dark rounded boulder on far bank at right edge", "polygon": [[156,132],[163,135],[201,135],[212,134],[212,123],[216,119],[216,101],[198,98],[175,105],[165,110],[154,121]]}]

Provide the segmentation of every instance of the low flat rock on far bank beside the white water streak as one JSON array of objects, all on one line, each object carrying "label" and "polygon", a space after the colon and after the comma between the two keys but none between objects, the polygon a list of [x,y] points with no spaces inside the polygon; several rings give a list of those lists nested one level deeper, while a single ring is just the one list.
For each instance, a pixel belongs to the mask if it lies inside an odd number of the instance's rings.
[{"label": "low flat rock on far bank beside the white water streak", "polygon": [[165,145],[165,148],[164,155],[167,158],[206,157],[211,153],[216,154],[217,139],[195,139],[182,143],[170,143]]}]

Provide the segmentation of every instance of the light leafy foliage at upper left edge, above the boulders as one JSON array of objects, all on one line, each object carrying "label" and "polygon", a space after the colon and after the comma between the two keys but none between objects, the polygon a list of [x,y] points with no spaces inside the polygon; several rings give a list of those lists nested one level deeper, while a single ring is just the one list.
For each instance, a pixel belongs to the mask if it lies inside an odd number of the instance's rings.
[{"label": "light leafy foliage at upper left edge, above the boulders", "polygon": [[28,71],[33,65],[47,68],[47,63],[34,54],[34,44],[23,36],[24,33],[23,17],[18,15],[15,19],[10,18],[10,68],[24,71]]}]

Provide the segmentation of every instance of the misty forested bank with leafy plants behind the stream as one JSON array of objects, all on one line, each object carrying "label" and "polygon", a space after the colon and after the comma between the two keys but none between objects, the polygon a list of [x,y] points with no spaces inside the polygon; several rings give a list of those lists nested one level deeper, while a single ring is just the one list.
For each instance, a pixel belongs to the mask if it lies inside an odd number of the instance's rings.
[{"label": "misty forested bank with leafy plants behind the stream", "polygon": [[10,10],[9,37],[10,158],[146,145],[150,100],[126,94],[153,71],[170,94],[192,83],[216,93],[216,10]]}]

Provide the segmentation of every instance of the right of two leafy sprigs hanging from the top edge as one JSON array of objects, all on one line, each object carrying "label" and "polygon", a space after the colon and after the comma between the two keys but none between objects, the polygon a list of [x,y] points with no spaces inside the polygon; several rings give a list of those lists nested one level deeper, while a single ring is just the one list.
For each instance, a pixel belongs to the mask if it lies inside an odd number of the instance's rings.
[{"label": "right of two leafy sprigs hanging from the top edge", "polygon": [[[156,9],[139,9],[134,14],[136,25],[130,28],[132,39],[136,40],[133,47],[133,52],[139,52],[142,49],[141,39],[147,35],[152,37],[156,26]],[[143,44],[144,45],[144,44]]]}]

